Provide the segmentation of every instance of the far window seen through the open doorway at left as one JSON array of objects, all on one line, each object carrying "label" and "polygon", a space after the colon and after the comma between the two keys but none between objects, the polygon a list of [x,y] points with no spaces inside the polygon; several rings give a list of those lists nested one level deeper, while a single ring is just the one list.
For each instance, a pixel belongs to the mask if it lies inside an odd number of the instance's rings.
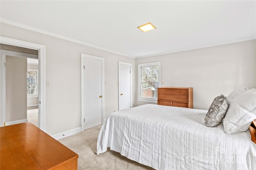
[{"label": "far window seen through the open doorway at left", "polygon": [[37,69],[28,69],[27,96],[38,97],[38,70]]}]

